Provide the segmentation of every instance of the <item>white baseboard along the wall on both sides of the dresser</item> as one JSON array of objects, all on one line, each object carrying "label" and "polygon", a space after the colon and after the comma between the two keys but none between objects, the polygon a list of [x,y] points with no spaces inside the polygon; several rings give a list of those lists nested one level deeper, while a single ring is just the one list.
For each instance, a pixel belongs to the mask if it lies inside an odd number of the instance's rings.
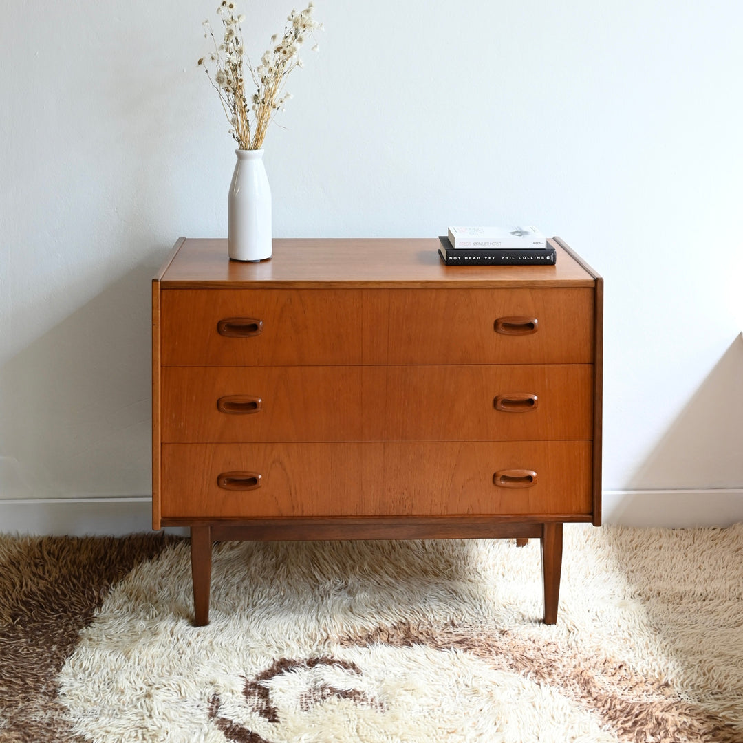
[{"label": "white baseboard along the wall on both sides of the dresser", "polygon": [[[151,512],[149,497],[0,499],[0,533],[124,536],[152,531]],[[603,493],[604,524],[681,528],[736,522],[743,522],[743,489]]]}]

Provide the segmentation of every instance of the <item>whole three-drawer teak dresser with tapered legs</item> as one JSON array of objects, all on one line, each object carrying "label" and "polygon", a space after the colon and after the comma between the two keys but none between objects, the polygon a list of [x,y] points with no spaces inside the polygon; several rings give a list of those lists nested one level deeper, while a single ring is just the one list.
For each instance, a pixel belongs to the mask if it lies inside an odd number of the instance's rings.
[{"label": "whole three-drawer teak dresser with tapered legs", "polygon": [[512,537],[601,518],[603,281],[445,266],[436,239],[286,239],[261,263],[181,238],[152,285],[153,527],[212,541]]}]

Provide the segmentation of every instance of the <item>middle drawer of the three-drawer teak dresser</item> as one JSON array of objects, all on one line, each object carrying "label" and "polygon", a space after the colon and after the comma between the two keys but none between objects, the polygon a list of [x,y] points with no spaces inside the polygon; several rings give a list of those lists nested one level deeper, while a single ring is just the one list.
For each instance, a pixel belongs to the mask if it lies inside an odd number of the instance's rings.
[{"label": "middle drawer of the three-drawer teak dresser", "polygon": [[162,441],[591,438],[593,366],[166,367]]}]

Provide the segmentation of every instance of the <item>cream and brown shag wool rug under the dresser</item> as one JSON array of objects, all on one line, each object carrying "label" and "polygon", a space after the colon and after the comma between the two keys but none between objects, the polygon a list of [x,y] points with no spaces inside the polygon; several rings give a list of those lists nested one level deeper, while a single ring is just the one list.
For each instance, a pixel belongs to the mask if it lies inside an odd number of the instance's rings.
[{"label": "cream and brown shag wool rug under the dresser", "polygon": [[539,542],[0,537],[0,741],[743,741],[743,525]]}]

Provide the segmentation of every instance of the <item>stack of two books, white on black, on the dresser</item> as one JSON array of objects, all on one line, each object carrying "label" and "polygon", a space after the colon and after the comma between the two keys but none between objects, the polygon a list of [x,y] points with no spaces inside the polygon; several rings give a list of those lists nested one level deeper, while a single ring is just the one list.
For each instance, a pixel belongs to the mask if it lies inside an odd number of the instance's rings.
[{"label": "stack of two books, white on black, on the dresser", "polygon": [[536,227],[450,227],[439,240],[447,266],[554,266],[556,260]]}]

